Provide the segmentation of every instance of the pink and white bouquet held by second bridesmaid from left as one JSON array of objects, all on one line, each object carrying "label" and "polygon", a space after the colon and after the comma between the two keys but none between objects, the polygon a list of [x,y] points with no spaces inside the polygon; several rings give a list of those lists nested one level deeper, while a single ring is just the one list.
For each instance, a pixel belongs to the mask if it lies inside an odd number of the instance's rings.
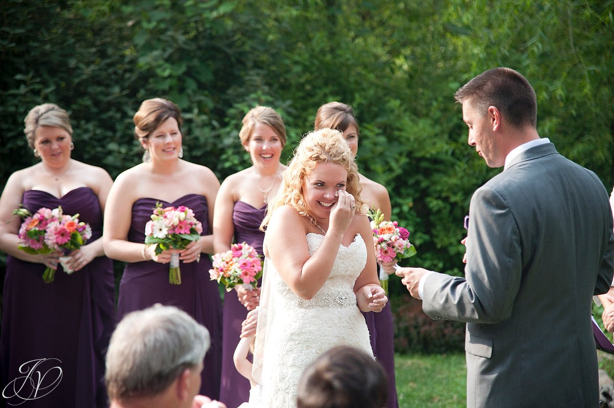
[{"label": "pink and white bouquet held by second bridesmaid from left", "polygon": [[[160,255],[167,249],[184,249],[190,242],[198,241],[202,232],[203,225],[188,207],[162,208],[157,202],[151,220],[145,225],[145,244],[155,245],[154,252]],[[171,255],[169,266],[168,282],[181,285],[179,253]]]}]

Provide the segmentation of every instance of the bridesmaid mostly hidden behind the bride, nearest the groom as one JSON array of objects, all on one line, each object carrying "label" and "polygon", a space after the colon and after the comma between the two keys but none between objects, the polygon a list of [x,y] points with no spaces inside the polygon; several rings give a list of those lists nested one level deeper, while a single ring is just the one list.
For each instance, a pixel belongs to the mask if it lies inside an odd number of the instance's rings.
[{"label": "bridesmaid mostly hidden behind the bride, nearest the groom", "polygon": [[[316,113],[314,129],[331,128],[338,129],[343,133],[343,137],[348,141],[352,154],[356,156],[358,152],[359,128],[351,106],[341,102],[328,102],[322,105]],[[360,174],[360,185],[362,193],[360,195],[367,202],[368,206],[380,209],[384,214],[384,220],[391,220],[392,206],[388,190],[383,185],[367,179]],[[394,275],[394,263],[381,264],[385,273]],[[369,333],[371,334],[371,348],[373,355],[386,369],[388,374],[389,390],[387,408],[397,408],[397,385],[394,375],[394,326],[392,322],[392,311],[390,306],[384,307],[381,313],[363,313]]]}]

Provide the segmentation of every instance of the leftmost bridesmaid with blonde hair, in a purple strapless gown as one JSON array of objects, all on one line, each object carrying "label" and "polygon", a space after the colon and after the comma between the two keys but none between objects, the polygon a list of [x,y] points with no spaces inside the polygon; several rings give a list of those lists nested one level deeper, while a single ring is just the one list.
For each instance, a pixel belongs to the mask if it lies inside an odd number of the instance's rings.
[{"label": "leftmost bridesmaid with blonde hair, in a purple strapless gown", "polygon": [[[112,180],[100,167],[71,158],[70,119],[55,104],[30,110],[25,134],[41,161],[14,172],[0,198],[0,250],[8,254],[0,387],[10,405],[106,407],[104,354],[115,326],[115,286],[100,237]],[[31,214],[61,206],[64,214],[78,213],[90,224],[87,244],[69,254],[74,273],[58,268],[60,253],[18,250],[20,220],[11,213],[22,203]],[[46,267],[56,269],[51,283],[42,279]],[[36,372],[44,375],[41,382]]]}]

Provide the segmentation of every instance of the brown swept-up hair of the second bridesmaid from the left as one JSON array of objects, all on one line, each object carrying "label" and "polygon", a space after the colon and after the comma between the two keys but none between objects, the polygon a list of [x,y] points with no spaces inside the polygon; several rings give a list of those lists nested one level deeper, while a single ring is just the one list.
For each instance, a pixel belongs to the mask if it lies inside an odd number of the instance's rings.
[{"label": "brown swept-up hair of the second bridesmaid from the left", "polygon": [[168,118],[175,118],[179,132],[183,134],[181,126],[184,120],[176,104],[162,98],[146,99],[134,114],[134,137],[147,139]]}]

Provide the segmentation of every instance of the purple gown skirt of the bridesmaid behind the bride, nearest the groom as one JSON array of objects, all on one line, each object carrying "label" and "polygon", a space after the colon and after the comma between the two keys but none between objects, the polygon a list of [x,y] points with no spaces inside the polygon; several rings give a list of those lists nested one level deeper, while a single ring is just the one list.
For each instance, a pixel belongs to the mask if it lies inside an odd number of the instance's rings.
[{"label": "purple gown skirt of the bridesmaid behind the bride, nearest the groom", "polygon": [[[379,274],[379,266],[378,266]],[[387,304],[379,313],[362,312],[369,328],[371,350],[388,374],[388,401],[386,408],[398,408],[397,381],[394,375],[394,323],[392,310]]]}]

